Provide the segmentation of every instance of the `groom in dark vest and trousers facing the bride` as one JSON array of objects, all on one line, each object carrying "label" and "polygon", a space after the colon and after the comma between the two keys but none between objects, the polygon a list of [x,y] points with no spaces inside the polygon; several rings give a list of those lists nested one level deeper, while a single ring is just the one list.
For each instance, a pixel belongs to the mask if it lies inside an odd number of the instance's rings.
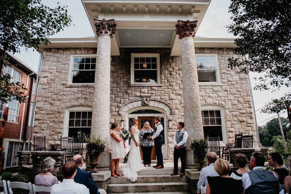
[{"label": "groom in dark vest and trousers facing the bride", "polygon": [[163,136],[162,131],[164,130],[163,125],[161,124],[161,118],[159,116],[155,117],[155,134],[152,135],[152,137],[148,136],[149,138],[152,138],[152,141],[155,142],[155,149],[156,149],[156,156],[157,156],[157,165],[152,166],[156,169],[163,169],[163,154],[162,154],[162,145],[163,145]]}]

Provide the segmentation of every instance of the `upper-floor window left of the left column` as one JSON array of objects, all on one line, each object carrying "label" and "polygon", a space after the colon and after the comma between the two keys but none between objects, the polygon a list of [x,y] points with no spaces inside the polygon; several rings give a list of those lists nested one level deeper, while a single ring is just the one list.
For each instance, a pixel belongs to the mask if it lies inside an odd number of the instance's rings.
[{"label": "upper-floor window left of the left column", "polygon": [[96,56],[72,55],[69,82],[71,84],[92,84],[95,80]]}]

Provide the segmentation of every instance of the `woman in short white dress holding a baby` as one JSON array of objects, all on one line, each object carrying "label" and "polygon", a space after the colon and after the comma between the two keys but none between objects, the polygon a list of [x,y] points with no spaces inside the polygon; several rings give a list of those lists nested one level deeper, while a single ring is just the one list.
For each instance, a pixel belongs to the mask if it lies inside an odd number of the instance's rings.
[{"label": "woman in short white dress holding a baby", "polygon": [[[124,157],[124,148],[122,143],[122,137],[117,135],[117,126],[118,124],[116,122],[111,124],[111,176],[113,177],[119,177],[122,176],[119,174],[119,160],[120,158]],[[115,172],[114,173],[114,166],[115,166]]]}]

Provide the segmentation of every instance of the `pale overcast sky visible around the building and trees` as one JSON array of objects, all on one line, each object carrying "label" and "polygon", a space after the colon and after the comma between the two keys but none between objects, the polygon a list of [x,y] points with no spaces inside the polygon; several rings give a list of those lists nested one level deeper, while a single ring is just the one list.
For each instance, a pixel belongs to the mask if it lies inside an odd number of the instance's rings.
[{"label": "pale overcast sky visible around the building and trees", "polygon": [[[56,0],[42,1],[43,4],[49,7],[56,7]],[[62,5],[68,6],[68,13],[72,16],[72,26],[65,28],[64,31],[59,32],[52,38],[80,38],[87,36],[94,36],[94,32],[83,8],[81,0],[61,0]],[[226,30],[226,25],[230,24],[232,21],[229,19],[228,7],[230,0],[212,0],[206,14],[197,30],[196,36],[208,37],[208,38],[234,38],[232,34],[229,34]],[[32,69],[37,71],[39,54],[32,49],[28,49],[26,52],[24,49],[21,53],[15,53],[15,56],[24,62],[26,65],[30,66]],[[253,79],[258,76],[256,73],[250,73],[251,85],[255,86],[256,81]],[[281,88],[276,92],[269,91],[256,91],[253,90],[253,98],[255,104],[255,110],[258,110],[266,105],[271,99],[279,98],[284,93],[289,91],[286,87]],[[284,110],[285,111],[285,110]],[[282,112],[284,112],[282,111]],[[258,125],[264,125],[270,117],[276,118],[276,114],[265,114],[256,111],[256,118]],[[287,112],[281,114],[280,116],[287,117]],[[264,121],[266,120],[266,121]]]}]

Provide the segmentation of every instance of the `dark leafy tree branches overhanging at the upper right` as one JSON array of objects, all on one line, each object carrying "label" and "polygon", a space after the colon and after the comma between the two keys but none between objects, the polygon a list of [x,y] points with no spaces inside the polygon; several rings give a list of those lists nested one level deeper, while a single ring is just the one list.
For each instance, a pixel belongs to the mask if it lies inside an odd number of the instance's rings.
[{"label": "dark leafy tree branches overhanging at the upper right", "polygon": [[[229,67],[240,72],[261,73],[254,87],[272,92],[291,86],[291,1],[231,0],[232,23],[228,31],[236,38],[234,53],[246,60],[229,58]],[[269,102],[262,112],[277,113],[291,104],[291,93]]]}]

